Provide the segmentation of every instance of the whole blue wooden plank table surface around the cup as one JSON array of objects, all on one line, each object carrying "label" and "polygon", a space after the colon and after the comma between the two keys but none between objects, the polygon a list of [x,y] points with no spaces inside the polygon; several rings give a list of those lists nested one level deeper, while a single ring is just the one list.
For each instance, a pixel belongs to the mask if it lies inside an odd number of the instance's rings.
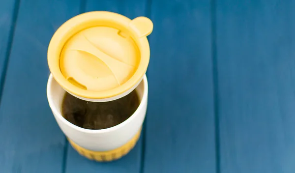
[{"label": "whole blue wooden plank table surface around the cup", "polygon": [[[295,173],[294,0],[0,0],[0,173]],[[154,23],[143,133],[122,159],[80,156],[46,98],[69,18]]]}]

